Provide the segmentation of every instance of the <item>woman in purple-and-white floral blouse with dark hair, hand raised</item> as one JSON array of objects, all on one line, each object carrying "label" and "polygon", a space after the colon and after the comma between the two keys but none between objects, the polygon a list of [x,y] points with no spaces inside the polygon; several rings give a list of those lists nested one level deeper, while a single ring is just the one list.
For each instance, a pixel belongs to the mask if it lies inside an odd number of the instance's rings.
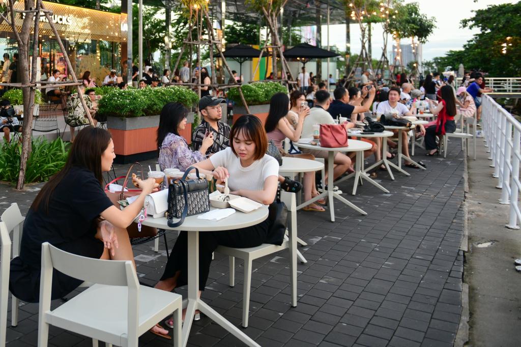
[{"label": "woman in purple-and-white floral blouse with dark hair, hand raised", "polygon": [[179,132],[187,125],[188,110],[180,103],[168,103],[161,110],[157,128],[159,165],[163,169],[186,170],[192,164],[206,159],[206,150],[214,143],[212,133],[206,135],[199,151],[192,151]]}]

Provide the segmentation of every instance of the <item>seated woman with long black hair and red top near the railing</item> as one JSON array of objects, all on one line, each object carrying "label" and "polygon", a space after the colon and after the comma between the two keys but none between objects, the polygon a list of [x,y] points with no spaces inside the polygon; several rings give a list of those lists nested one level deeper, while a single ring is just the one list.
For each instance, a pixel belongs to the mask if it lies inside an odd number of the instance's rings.
[{"label": "seated woman with long black hair and red top near the railing", "polygon": [[436,125],[430,126],[425,131],[425,149],[427,156],[439,155],[436,145],[436,135],[444,135],[456,130],[454,116],[456,115],[456,100],[454,91],[450,85],[441,87],[441,101],[435,105],[435,101],[429,99],[429,108],[433,115],[438,115]]}]

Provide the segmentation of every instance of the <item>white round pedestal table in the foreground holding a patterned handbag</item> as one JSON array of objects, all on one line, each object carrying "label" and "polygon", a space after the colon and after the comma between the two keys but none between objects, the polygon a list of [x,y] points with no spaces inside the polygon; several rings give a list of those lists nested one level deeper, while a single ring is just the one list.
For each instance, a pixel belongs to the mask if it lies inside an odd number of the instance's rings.
[{"label": "white round pedestal table in the foreground holding a patterned handbag", "polygon": [[[210,209],[214,209],[210,207]],[[199,291],[199,232],[221,231],[250,227],[259,224],[268,217],[268,207],[262,206],[250,213],[235,212],[227,218],[218,221],[198,219],[197,215],[186,217],[179,227],[171,228],[165,217],[146,218],[142,224],[150,227],[166,230],[183,230],[188,233],[188,306],[182,329],[182,345],[187,345],[190,328],[192,327],[195,310],[203,312],[215,323],[231,332],[235,337],[246,345],[260,347],[253,339],[247,336],[243,330],[231,324],[228,320],[217,313],[212,307],[197,297]],[[295,258],[296,267],[296,258]]]}]

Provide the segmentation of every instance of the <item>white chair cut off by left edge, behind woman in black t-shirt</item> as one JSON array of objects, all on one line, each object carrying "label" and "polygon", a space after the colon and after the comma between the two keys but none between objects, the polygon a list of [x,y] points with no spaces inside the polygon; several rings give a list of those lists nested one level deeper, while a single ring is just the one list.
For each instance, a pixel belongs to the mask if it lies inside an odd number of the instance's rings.
[{"label": "white chair cut off by left edge, behind woman in black t-shirt", "polygon": [[[7,302],[9,295],[9,267],[11,261],[11,239],[9,232],[13,231],[13,258],[20,253],[20,240],[24,217],[16,203],[11,204],[0,219],[0,245],[2,258],[0,259],[0,346],[5,346],[7,330]],[[13,295],[11,300],[11,326],[18,325],[19,300]]]}]

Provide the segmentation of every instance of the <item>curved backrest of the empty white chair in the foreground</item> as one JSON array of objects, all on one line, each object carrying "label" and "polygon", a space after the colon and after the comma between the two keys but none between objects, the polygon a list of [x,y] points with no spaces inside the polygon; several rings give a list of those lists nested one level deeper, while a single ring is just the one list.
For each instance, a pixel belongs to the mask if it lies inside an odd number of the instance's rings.
[{"label": "curved backrest of the empty white chair in the foreground", "polygon": [[[45,255],[44,255],[45,253]],[[55,268],[63,274],[83,281],[109,286],[139,287],[131,261],[109,261],[62,251],[44,242],[42,268]],[[128,269],[130,268],[130,273]]]}]

